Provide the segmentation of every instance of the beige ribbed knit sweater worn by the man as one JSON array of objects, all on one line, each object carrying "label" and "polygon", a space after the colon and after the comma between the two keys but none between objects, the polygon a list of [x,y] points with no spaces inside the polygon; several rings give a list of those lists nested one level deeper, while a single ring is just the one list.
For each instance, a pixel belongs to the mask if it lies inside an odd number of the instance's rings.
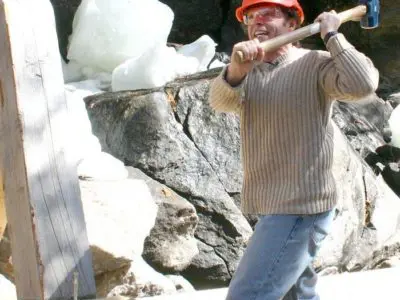
[{"label": "beige ribbed knit sweater worn by the man", "polygon": [[335,206],[331,104],[373,93],[379,73],[342,34],[327,49],[292,48],[236,87],[224,68],[211,84],[211,107],[240,115],[243,212],[313,214]]}]

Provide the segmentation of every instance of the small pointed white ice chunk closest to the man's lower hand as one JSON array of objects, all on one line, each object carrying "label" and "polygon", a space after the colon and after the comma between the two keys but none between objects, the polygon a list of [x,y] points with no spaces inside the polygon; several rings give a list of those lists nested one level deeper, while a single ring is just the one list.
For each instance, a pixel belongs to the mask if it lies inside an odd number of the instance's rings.
[{"label": "small pointed white ice chunk closest to the man's lower hand", "polygon": [[198,72],[207,70],[207,66],[215,55],[217,44],[208,35],[202,35],[193,43],[182,46],[178,53],[186,57],[195,57],[199,61]]}]

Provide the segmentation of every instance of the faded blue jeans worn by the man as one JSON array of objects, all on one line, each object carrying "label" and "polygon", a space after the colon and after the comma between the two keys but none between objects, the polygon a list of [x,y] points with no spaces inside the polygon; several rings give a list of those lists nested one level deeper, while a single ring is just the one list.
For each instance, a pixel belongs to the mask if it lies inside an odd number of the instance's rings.
[{"label": "faded blue jeans worn by the man", "polygon": [[319,299],[312,261],[328,235],[334,212],[261,217],[226,300]]}]

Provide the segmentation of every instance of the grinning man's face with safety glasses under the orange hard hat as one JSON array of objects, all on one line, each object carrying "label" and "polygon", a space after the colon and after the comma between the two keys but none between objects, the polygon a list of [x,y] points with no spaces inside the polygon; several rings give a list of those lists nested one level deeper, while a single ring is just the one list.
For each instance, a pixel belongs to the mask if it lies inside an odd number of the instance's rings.
[{"label": "grinning man's face with safety glasses under the orange hard hat", "polygon": [[289,20],[277,5],[265,5],[250,8],[244,13],[249,39],[260,42],[269,40],[294,29],[294,21]]}]

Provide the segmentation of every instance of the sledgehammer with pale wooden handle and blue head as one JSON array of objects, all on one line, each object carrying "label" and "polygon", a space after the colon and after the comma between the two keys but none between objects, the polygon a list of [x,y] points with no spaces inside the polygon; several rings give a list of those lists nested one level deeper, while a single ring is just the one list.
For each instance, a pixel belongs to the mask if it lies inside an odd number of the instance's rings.
[{"label": "sledgehammer with pale wooden handle and blue head", "polygon": [[[348,21],[360,21],[361,28],[363,29],[378,27],[380,22],[379,0],[360,0],[359,3],[358,6],[352,9],[338,13],[340,24]],[[266,52],[274,51],[283,45],[300,41],[320,31],[320,23],[313,23],[264,41],[261,43],[261,46]],[[238,59],[238,61],[243,61],[243,53],[241,51],[236,52],[236,59]]]}]

